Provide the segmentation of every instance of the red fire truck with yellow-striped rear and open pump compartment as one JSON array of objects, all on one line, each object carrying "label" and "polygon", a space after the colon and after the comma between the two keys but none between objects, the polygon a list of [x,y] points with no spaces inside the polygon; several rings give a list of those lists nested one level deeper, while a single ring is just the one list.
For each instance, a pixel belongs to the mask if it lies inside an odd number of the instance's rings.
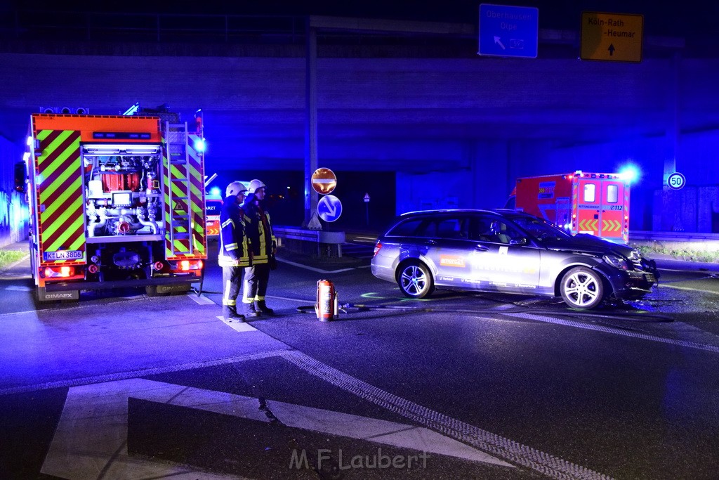
[{"label": "red fire truck with yellow-striped rear and open pump compartment", "polygon": [[41,302],[81,290],[188,291],[207,258],[201,119],[32,114],[25,163]]}]

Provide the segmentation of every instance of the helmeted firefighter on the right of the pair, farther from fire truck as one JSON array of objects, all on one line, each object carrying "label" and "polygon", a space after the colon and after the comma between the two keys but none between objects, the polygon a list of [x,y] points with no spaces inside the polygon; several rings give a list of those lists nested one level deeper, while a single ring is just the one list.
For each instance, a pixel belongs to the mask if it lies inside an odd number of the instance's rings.
[{"label": "helmeted firefighter on the right of the pair, farther from fire truck", "polygon": [[270,280],[270,265],[275,265],[275,253],[277,253],[277,240],[273,235],[270,214],[262,208],[265,188],[265,184],[260,180],[250,181],[247,197],[242,204],[252,251],[252,265],[244,269],[242,303],[245,317],[275,314],[265,302],[267,282]]}]

